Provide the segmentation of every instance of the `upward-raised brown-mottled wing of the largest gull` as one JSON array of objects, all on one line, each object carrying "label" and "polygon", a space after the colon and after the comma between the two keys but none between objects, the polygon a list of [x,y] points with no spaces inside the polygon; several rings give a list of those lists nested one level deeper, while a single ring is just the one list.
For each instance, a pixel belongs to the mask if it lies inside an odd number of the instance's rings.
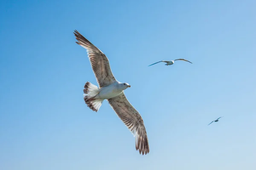
[{"label": "upward-raised brown-mottled wing of the largest gull", "polygon": [[84,38],[84,36],[82,36],[78,31],[75,30],[74,34],[76,36],[76,40],[78,40],[76,43],[87,49],[90,64],[92,65],[99,87],[102,88],[115,82],[116,79],[112,74],[108,58],[105,54]]}]

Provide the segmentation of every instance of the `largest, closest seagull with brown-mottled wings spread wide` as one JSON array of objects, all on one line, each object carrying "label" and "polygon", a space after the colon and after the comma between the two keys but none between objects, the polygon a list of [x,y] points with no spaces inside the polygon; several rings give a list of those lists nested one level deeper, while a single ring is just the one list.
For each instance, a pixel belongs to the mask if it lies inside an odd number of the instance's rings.
[{"label": "largest, closest seagull with brown-mottled wings spread wide", "polygon": [[148,137],[140,113],[126,99],[124,90],[130,88],[128,83],[121,83],[112,74],[108,58],[102,51],[84,38],[78,31],[74,32],[76,42],[87,49],[87,54],[99,88],[90,82],[84,85],[84,101],[93,111],[99,111],[103,100],[107,99],[117,116],[135,136],[135,147],[144,155],[149,153]]}]

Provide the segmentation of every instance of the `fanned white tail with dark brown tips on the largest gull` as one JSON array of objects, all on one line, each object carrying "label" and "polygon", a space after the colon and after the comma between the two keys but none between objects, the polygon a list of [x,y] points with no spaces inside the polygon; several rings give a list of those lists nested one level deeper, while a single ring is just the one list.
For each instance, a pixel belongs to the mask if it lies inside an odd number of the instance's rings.
[{"label": "fanned white tail with dark brown tips on the largest gull", "polygon": [[94,97],[99,93],[99,88],[96,85],[86,82],[84,85],[84,101],[87,106],[93,111],[99,111],[102,105],[102,99],[94,99]]}]

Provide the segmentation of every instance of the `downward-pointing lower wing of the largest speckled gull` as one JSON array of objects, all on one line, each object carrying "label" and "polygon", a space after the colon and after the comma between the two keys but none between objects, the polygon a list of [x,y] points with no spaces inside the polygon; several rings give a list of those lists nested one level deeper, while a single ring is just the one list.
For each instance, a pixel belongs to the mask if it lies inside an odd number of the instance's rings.
[{"label": "downward-pointing lower wing of the largest speckled gull", "polygon": [[135,147],[144,155],[149,153],[148,136],[140,113],[131,105],[122,92],[120,95],[108,99],[109,104],[117,116],[131,130],[135,136]]}]

